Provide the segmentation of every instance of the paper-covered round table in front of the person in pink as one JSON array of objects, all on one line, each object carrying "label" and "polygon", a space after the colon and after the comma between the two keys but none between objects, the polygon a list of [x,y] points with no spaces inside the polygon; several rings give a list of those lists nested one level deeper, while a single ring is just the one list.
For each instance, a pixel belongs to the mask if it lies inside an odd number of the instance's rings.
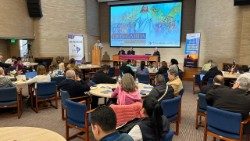
[{"label": "paper-covered round table in front of the person in pink", "polygon": [[[118,84],[97,84],[90,88],[90,94],[94,96],[111,98],[112,89],[116,88]],[[153,89],[153,86],[143,83],[138,83],[138,88],[142,97],[145,97]]]}]

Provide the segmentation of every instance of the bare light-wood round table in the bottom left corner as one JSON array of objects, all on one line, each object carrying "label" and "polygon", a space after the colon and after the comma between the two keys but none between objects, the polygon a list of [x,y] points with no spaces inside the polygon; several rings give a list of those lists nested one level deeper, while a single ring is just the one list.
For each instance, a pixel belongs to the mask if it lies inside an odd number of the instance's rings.
[{"label": "bare light-wood round table in the bottom left corner", "polygon": [[1,127],[1,141],[66,141],[54,131],[36,127]]}]

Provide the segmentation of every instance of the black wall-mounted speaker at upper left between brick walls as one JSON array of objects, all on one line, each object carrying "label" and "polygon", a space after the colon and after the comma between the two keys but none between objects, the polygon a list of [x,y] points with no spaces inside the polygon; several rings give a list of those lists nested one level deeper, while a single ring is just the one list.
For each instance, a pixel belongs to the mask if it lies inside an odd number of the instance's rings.
[{"label": "black wall-mounted speaker at upper left between brick walls", "polygon": [[41,9],[41,0],[26,0],[29,16],[33,18],[41,18],[43,16]]}]

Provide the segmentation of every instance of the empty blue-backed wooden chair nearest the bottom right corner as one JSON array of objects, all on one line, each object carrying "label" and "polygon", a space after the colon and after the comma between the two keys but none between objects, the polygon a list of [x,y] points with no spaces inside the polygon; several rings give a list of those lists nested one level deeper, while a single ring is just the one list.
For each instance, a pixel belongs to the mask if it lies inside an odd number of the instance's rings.
[{"label": "empty blue-backed wooden chair nearest the bottom right corner", "polygon": [[204,141],[207,136],[212,136],[226,141],[242,141],[243,127],[249,120],[242,121],[240,113],[229,112],[215,107],[207,106],[206,127]]}]

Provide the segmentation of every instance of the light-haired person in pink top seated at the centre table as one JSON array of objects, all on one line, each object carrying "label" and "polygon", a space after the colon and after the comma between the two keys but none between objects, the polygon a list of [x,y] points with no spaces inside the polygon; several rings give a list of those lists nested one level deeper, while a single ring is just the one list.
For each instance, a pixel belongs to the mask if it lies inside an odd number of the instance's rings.
[{"label": "light-haired person in pink top seated at the centre table", "polygon": [[123,75],[120,85],[114,90],[111,97],[117,98],[118,105],[129,105],[142,101],[134,77],[129,73]]}]

